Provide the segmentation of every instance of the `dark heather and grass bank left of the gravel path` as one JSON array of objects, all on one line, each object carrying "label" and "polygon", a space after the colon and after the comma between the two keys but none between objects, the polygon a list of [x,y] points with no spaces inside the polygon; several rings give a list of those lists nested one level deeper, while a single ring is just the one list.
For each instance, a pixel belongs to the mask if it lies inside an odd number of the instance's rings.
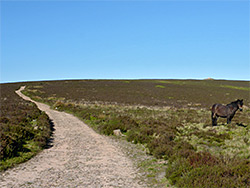
[{"label": "dark heather and grass bank left of the gravel path", "polygon": [[36,105],[21,99],[20,84],[1,84],[0,171],[34,156],[50,138],[48,116]]}]

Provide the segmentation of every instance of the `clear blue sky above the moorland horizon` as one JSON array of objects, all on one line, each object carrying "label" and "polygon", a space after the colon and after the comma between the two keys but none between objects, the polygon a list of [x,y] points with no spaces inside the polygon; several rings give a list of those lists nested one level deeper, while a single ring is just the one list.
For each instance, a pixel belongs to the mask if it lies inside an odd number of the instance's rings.
[{"label": "clear blue sky above the moorland horizon", "polygon": [[1,1],[1,82],[250,80],[249,1]]}]

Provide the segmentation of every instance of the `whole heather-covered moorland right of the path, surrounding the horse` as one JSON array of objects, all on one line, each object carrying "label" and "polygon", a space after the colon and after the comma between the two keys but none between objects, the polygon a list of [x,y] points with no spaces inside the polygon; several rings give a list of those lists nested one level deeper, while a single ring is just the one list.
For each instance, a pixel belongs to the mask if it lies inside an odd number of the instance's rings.
[{"label": "whole heather-covered moorland right of the path, surrounding the horse", "polygon": [[[168,161],[165,176],[177,187],[249,187],[249,88],[243,81],[74,80],[27,83],[24,93],[103,134],[120,129]],[[243,112],[212,127],[209,108],[238,98]]]}]

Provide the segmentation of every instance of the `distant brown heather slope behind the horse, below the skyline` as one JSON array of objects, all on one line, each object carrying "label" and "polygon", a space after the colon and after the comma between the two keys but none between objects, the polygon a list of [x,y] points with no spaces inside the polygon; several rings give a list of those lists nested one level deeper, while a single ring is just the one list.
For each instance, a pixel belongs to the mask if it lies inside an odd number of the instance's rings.
[{"label": "distant brown heather slope behind the horse, below the skyline", "polygon": [[[243,98],[250,106],[250,85],[220,80],[74,80],[32,83],[37,96],[74,102],[203,107]],[[48,99],[50,97],[50,99]]]}]

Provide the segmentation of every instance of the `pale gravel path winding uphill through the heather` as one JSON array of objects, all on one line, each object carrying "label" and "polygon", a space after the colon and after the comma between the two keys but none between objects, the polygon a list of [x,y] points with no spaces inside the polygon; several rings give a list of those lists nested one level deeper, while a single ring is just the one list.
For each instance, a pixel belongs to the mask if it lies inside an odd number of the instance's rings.
[{"label": "pale gravel path winding uphill through the heather", "polygon": [[[32,101],[21,93],[23,89],[16,93]],[[146,187],[132,161],[112,139],[97,134],[71,114],[32,102],[55,125],[53,147],[0,174],[0,187]]]}]

